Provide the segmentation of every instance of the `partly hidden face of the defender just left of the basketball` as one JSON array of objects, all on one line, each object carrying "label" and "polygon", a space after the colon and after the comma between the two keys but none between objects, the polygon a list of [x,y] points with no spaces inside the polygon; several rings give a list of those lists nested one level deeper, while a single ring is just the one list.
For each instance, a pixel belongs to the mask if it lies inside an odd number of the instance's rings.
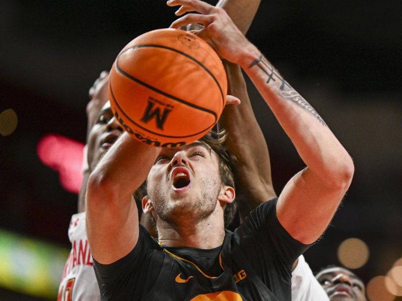
[{"label": "partly hidden face of the defender just left of the basketball", "polygon": [[122,134],[123,129],[113,115],[110,102],[108,101],[100,109],[95,124],[88,135],[88,164],[91,171],[98,164],[107,150],[115,143]]}]

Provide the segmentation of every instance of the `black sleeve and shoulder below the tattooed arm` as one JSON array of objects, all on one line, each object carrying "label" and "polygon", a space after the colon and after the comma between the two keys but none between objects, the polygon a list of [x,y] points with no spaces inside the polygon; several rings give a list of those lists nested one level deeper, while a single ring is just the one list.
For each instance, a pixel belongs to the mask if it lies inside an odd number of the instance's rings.
[{"label": "black sleeve and shoulder below the tattooed arm", "polygon": [[288,282],[293,262],[311,245],[295,240],[282,227],[276,217],[277,200],[265,202],[251,211],[235,230],[234,237],[262,278],[276,276]]}]

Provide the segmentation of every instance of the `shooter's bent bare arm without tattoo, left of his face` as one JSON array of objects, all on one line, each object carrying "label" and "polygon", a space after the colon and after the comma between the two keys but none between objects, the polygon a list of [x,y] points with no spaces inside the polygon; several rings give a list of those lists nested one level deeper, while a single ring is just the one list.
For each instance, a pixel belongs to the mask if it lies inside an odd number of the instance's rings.
[{"label": "shooter's bent bare arm without tattoo, left of his face", "polygon": [[132,194],[146,179],[159,152],[124,133],[91,173],[86,229],[97,262],[115,262],[136,245],[138,211]]}]

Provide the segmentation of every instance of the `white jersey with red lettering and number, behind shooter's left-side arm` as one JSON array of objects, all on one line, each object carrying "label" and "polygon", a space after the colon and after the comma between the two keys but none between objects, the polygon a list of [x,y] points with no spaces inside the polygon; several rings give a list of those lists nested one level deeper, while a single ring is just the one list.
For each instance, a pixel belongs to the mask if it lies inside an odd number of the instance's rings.
[{"label": "white jersey with red lettering and number, behind shooter's left-side arm", "polygon": [[68,238],[71,251],[64,266],[57,301],[100,301],[86,237],[85,212],[71,217]]}]

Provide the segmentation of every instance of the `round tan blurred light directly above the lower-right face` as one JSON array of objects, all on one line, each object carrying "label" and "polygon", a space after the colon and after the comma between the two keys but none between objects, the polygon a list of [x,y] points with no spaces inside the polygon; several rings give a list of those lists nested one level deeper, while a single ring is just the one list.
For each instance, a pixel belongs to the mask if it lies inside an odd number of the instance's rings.
[{"label": "round tan blurred light directly above the lower-right face", "polygon": [[348,238],[338,247],[338,260],[348,268],[359,268],[369,257],[367,244],[358,238]]}]

